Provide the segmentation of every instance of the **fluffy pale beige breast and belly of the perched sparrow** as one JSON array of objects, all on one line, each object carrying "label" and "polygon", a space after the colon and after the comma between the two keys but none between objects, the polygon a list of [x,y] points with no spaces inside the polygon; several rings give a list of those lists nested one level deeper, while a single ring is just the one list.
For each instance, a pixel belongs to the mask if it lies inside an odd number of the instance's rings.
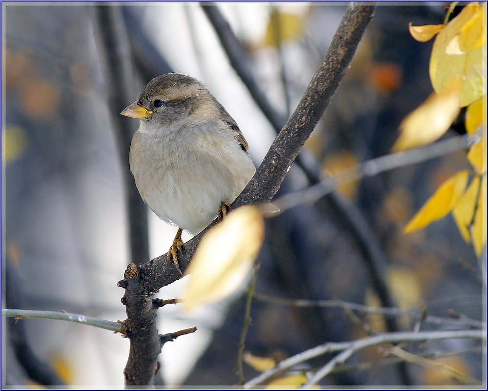
[{"label": "fluffy pale beige breast and belly of the perched sparrow", "polygon": [[196,234],[217,216],[222,202],[234,201],[255,167],[232,133],[193,130],[165,135],[136,132],[129,162],[151,210]]}]

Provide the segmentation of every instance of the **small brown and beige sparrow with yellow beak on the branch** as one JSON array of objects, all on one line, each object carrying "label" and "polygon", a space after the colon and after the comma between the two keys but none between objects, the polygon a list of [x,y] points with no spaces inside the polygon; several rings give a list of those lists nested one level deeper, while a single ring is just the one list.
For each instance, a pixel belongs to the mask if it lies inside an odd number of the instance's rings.
[{"label": "small brown and beige sparrow with yellow beak on the branch", "polygon": [[196,235],[222,220],[256,172],[248,144],[205,85],[182,73],[152,79],[121,115],[139,119],[130,170],[145,204],[178,227],[167,262],[181,274],[183,229]]}]

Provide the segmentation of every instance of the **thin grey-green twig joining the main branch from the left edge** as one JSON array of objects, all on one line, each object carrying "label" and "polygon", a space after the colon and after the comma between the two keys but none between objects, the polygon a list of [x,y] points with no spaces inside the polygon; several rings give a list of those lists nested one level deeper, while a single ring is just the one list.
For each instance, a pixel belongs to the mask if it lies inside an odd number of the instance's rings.
[{"label": "thin grey-green twig joining the main branch from the left edge", "polygon": [[3,316],[17,319],[27,318],[41,318],[41,319],[57,319],[67,320],[69,322],[81,323],[82,325],[89,325],[98,327],[100,329],[110,330],[114,332],[123,332],[122,322],[112,322],[100,318],[93,318],[91,316],[80,315],[69,312],[56,311],[38,311],[32,309],[2,309]]}]

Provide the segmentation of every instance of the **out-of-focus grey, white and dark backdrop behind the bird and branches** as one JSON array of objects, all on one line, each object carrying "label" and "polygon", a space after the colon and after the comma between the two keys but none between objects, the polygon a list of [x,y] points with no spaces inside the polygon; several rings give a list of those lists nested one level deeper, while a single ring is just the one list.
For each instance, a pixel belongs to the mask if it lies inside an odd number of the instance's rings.
[{"label": "out-of-focus grey, white and dark backdrop behind the bird and branches", "polygon": [[[324,57],[346,4],[216,4],[242,46],[244,57],[237,62],[269,103],[274,123],[223,50],[221,38],[232,35],[219,38],[207,18],[215,7],[204,7],[211,6],[2,3],[2,308],[124,320],[117,281],[126,265],[165,253],[176,228],[134,196],[126,148],[138,123],[120,111],[151,78],[170,71],[190,74],[239,124],[258,166],[277,124],[284,124]],[[389,153],[399,123],[432,91],[432,42],[414,41],[408,22],[442,23],[445,13],[444,3],[378,6],[344,81],[305,144],[301,165],[293,165],[278,195]],[[464,132],[461,113],[446,137]],[[267,296],[341,299],[483,320],[482,272],[452,218],[402,233],[438,185],[461,168],[469,168],[462,151],[351,183],[315,205],[268,219],[246,351],[279,360],[327,341],[365,336],[366,323],[376,331],[415,327],[411,317],[386,321],[338,308],[296,308]],[[184,285],[185,278],[158,297],[178,297]],[[157,382],[236,384],[244,306],[243,290],[196,314],[178,305],[161,309],[161,333],[192,326],[198,331],[164,345]],[[43,319],[2,319],[2,333],[4,387],[123,386],[129,341],[119,334]],[[430,342],[422,352],[482,378],[483,351],[472,341]],[[381,354],[367,350],[348,363],[375,360]],[[246,379],[257,373],[244,364]],[[459,383],[443,370],[389,363],[336,372],[323,385]]]}]

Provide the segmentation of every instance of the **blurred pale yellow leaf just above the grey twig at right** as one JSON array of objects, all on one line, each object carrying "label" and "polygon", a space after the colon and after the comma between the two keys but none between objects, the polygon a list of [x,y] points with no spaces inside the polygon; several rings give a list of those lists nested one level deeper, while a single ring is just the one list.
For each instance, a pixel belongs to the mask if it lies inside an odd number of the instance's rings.
[{"label": "blurred pale yellow leaf just above the grey twig at right", "polygon": [[400,136],[393,150],[403,151],[432,143],[446,133],[459,111],[459,89],[432,93],[400,123]]}]

